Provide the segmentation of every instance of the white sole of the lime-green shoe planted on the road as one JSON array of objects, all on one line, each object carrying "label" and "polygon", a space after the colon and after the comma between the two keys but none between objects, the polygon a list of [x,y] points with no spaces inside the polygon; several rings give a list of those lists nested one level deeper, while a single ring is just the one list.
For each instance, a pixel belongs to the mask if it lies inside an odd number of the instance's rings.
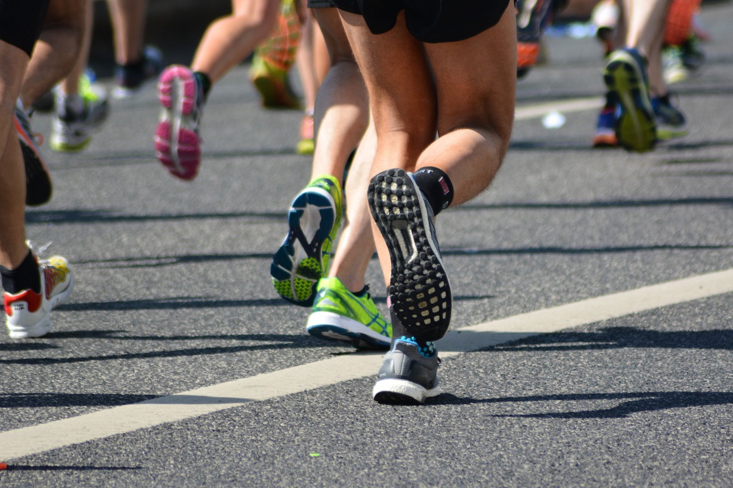
[{"label": "white sole of the lime-green shoe planted on the road", "polygon": [[308,318],[306,331],[314,337],[348,342],[357,349],[388,350],[391,338],[383,336],[358,320],[333,312],[313,312]]}]

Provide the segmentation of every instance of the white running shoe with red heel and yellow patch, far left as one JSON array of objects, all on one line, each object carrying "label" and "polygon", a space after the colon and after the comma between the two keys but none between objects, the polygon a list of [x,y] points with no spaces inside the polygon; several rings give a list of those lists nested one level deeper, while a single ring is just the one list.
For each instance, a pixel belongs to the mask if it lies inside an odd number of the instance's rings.
[{"label": "white running shoe with red heel and yellow patch, far left", "polygon": [[61,256],[38,262],[41,293],[24,290],[4,293],[5,325],[12,339],[41,337],[51,331],[51,310],[71,294],[74,276],[69,263]]}]

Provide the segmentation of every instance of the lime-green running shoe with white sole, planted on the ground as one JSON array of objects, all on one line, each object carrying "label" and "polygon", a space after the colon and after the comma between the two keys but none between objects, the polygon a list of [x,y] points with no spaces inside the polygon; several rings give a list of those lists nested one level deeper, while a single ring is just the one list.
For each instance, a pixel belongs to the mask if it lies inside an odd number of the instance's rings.
[{"label": "lime-green running shoe with white sole, planted on the ground", "polygon": [[306,330],[323,339],[349,342],[357,349],[388,349],[392,326],[372,296],[356,296],[338,278],[322,278]]}]

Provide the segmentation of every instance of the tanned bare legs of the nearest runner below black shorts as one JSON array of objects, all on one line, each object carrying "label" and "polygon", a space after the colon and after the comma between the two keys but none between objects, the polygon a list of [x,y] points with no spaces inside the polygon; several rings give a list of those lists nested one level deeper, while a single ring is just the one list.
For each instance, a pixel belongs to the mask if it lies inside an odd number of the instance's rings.
[{"label": "tanned bare legs of the nearest runner below black shorts", "polygon": [[[372,175],[430,165],[452,180],[453,205],[474,198],[493,179],[509,146],[517,56],[513,7],[476,37],[426,47],[408,33],[403,14],[394,29],[379,36],[369,32],[360,16],[341,14],[375,118]],[[479,63],[466,56],[476,52],[488,54]],[[413,70],[399,68],[405,63]],[[376,228],[374,232],[387,282],[389,254]]]}]

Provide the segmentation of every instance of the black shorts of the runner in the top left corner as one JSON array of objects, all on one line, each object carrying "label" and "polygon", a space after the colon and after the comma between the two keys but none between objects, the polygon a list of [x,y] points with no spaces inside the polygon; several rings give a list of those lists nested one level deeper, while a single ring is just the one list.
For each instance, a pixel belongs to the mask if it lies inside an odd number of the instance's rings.
[{"label": "black shorts of the runner in the top left corner", "polygon": [[48,0],[0,0],[0,40],[33,53],[48,11]]}]

